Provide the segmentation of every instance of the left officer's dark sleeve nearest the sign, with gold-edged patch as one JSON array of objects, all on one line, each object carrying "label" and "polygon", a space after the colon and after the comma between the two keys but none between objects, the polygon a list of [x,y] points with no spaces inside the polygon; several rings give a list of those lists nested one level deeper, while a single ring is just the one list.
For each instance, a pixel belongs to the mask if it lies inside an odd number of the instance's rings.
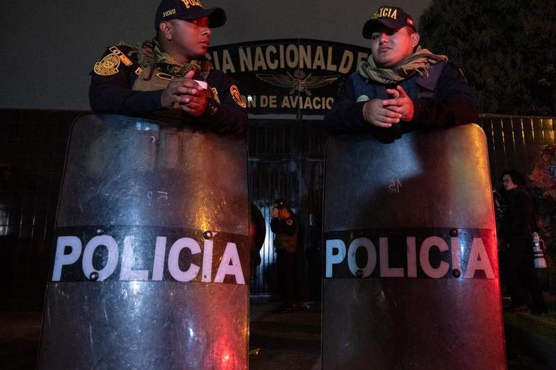
[{"label": "left officer's dark sleeve nearest the sign, with gold-edged patch", "polygon": [[[247,110],[238,83],[218,70],[208,76],[208,88],[213,90],[204,115],[199,119],[211,126],[213,131],[247,135]],[[216,94],[215,94],[215,93]]]}]

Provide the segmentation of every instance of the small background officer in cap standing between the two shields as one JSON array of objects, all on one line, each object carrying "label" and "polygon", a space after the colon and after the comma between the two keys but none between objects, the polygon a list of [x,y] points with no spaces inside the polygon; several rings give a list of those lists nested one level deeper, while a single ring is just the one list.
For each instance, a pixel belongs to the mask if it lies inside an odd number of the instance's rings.
[{"label": "small background officer in cap standing between the two shields", "polygon": [[297,252],[297,219],[286,202],[278,199],[272,205],[270,230],[275,233],[276,268],[281,305],[275,312],[285,313],[293,309],[295,297],[295,253]]}]

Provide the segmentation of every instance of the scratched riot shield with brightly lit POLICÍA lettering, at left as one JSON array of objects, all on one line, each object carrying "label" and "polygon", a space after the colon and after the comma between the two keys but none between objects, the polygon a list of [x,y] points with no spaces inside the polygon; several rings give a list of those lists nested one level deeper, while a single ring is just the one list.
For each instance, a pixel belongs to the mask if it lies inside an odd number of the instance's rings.
[{"label": "scratched riot shield with brightly lit POLIC\u00cdA lettering, at left", "polygon": [[247,369],[247,149],[85,115],[72,127],[40,369]]}]

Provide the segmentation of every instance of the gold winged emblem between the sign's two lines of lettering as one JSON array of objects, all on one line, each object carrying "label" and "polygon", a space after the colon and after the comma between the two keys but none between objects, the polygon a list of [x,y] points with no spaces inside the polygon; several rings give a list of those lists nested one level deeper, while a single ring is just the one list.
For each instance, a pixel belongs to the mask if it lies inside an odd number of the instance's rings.
[{"label": "gold winged emblem between the sign's two lines of lettering", "polygon": [[312,89],[330,85],[340,77],[339,74],[313,76],[312,74],[305,74],[301,69],[296,69],[293,75],[286,72],[286,74],[256,74],[256,76],[265,83],[270,83],[270,85],[290,89],[290,95],[295,92],[304,92],[307,96],[311,96]]}]

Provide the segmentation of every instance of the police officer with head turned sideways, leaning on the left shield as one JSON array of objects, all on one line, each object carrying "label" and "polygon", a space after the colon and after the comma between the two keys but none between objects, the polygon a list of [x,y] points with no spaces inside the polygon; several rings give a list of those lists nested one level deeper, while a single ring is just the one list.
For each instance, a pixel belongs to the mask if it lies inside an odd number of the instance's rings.
[{"label": "police officer with head turned sideways, leaning on the left shield", "polygon": [[226,23],[221,8],[199,0],[163,0],[156,37],[109,47],[91,72],[92,110],[179,119],[212,131],[244,135],[245,101],[237,83],[206,60],[211,28]]}]

